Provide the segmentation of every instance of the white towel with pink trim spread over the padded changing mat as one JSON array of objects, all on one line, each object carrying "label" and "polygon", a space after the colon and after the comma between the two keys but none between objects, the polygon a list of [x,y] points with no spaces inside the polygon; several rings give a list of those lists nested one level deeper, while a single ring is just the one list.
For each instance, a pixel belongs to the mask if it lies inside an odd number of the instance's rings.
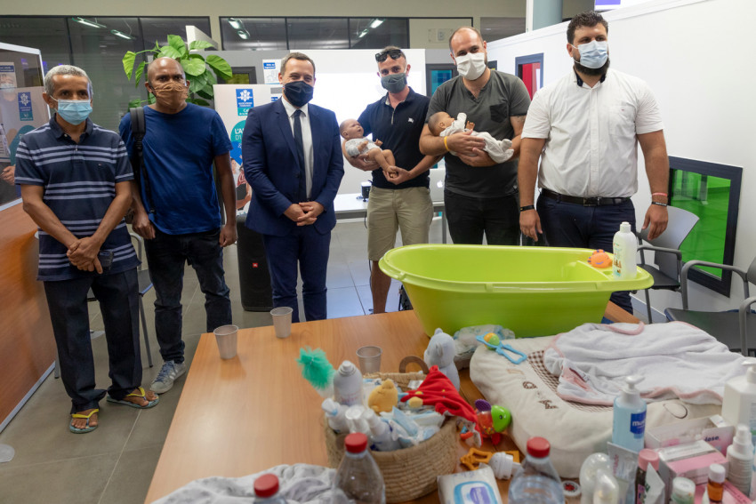
[{"label": "white towel with pink trim spread over the padded changing mat", "polygon": [[721,404],[725,383],[745,373],[744,356],[697,327],[668,324],[583,324],[559,334],[543,353],[559,376],[557,394],[585,404],[614,403],[629,375],[647,401],[679,397]]}]

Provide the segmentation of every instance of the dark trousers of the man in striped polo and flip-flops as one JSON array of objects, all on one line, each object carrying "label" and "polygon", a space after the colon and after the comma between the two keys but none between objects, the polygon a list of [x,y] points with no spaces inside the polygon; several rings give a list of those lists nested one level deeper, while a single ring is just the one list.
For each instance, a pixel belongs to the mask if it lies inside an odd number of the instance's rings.
[{"label": "dark trousers of the man in striped polo and flip-flops", "polygon": [[112,275],[44,282],[52,333],[58,345],[60,380],[71,398],[71,412],[97,408],[105,390],[95,388],[86,296],[100,301],[108,341],[108,393],[120,400],[141,385],[139,285],[136,268]]}]

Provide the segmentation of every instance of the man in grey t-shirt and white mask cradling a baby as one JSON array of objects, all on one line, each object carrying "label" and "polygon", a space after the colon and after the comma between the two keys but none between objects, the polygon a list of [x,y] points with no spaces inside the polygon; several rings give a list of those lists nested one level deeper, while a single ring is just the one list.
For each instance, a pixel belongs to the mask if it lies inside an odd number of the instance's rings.
[{"label": "man in grey t-shirt and white mask cradling a baby", "polygon": [[[428,118],[437,112],[456,117],[460,112],[496,140],[511,140],[512,156],[495,163],[486,142],[471,132],[434,136],[422,130],[425,154],[446,155],[444,204],[449,233],[455,244],[519,244],[517,161],[519,135],[525,124],[530,96],[516,76],[488,68],[486,42],[476,28],[462,27],[449,38],[459,76],[438,86],[430,99]],[[454,152],[454,155],[451,154]]]}]

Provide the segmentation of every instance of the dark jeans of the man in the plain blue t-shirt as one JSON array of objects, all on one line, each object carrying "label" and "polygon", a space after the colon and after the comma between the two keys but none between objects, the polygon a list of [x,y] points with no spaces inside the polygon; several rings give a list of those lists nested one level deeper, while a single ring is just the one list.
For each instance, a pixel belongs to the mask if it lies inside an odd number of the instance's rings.
[{"label": "dark jeans of the man in the plain blue t-shirt", "polygon": [[155,229],[155,238],[144,241],[149,277],[155,286],[155,332],[165,362],[184,362],[181,340],[181,291],[184,265],[189,262],[205,294],[207,332],[231,324],[229,287],[223,279],[220,229],[187,235],[166,235]]}]

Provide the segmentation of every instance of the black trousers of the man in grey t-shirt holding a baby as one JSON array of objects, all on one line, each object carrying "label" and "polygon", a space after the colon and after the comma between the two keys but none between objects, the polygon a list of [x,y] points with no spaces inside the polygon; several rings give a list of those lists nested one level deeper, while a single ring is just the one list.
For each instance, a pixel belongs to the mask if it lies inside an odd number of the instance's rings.
[{"label": "black trousers of the man in grey t-shirt holding a baby", "polygon": [[518,196],[469,197],[444,191],[446,220],[455,244],[519,244]]}]

